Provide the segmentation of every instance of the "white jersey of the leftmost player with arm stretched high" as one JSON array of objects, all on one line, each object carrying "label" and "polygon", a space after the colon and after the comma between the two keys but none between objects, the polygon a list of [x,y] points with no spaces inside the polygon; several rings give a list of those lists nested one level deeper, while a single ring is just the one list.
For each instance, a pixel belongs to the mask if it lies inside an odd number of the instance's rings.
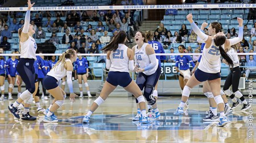
[{"label": "white jersey of the leftmost player with arm stretched high", "polygon": [[20,42],[20,58],[36,59],[35,52],[37,47],[32,37],[28,37],[25,42]]}]

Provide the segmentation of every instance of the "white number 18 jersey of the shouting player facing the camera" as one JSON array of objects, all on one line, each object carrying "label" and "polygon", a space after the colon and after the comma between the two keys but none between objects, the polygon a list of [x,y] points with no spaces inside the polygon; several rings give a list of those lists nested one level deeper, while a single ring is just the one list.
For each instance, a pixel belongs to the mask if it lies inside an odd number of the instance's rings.
[{"label": "white number 18 jersey of the shouting player facing the camera", "polygon": [[[146,53],[146,46],[148,44],[144,43],[141,47],[141,49],[138,49],[138,45],[135,46],[135,58],[137,59],[137,62],[139,63],[139,67],[145,68],[147,67],[151,62],[150,58],[148,57]],[[152,75],[155,73],[155,71],[158,69],[158,59],[156,59],[156,65],[154,68],[151,68],[150,70],[144,71],[143,73],[145,75]]]}]

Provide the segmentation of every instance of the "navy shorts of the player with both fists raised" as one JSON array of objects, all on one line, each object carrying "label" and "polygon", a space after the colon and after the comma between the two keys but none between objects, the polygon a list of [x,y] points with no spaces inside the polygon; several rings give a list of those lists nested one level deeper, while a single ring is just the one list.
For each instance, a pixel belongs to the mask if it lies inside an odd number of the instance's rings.
[{"label": "navy shorts of the player with both fists raised", "polygon": [[198,81],[200,82],[204,82],[207,80],[215,80],[221,77],[220,72],[218,73],[207,73],[204,71],[199,70],[199,68],[197,68],[197,70],[195,71],[195,77]]}]

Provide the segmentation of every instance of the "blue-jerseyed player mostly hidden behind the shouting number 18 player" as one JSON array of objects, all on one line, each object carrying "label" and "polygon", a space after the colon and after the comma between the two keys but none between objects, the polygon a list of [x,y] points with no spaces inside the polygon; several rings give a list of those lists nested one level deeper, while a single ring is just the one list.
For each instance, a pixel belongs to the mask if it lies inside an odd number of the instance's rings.
[{"label": "blue-jerseyed player mostly hidden behind the shouting number 18 player", "polygon": [[[163,46],[162,44],[160,44],[160,42],[158,41],[154,41],[153,38],[154,38],[154,32],[151,32],[151,31],[146,31],[146,39],[147,39],[147,43],[150,44],[154,50],[155,50],[155,53],[164,53],[164,49],[163,49]],[[158,66],[161,68],[161,60],[166,60],[166,56],[165,55],[156,55],[156,59],[158,59]],[[156,99],[158,98],[158,83],[156,83],[155,85],[155,89],[152,93],[152,96],[154,96]],[[148,115],[151,116],[151,110],[152,110],[152,107],[151,105],[147,105],[147,108],[148,108]]]}]

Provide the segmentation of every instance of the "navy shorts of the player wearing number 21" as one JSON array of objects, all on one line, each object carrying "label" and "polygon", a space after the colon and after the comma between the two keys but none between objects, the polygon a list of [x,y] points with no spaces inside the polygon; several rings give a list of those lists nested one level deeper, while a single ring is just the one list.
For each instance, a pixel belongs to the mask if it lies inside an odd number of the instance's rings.
[{"label": "navy shorts of the player wearing number 21", "polygon": [[126,87],[131,83],[132,80],[129,72],[110,71],[106,81],[114,86],[120,85],[122,87]]}]

